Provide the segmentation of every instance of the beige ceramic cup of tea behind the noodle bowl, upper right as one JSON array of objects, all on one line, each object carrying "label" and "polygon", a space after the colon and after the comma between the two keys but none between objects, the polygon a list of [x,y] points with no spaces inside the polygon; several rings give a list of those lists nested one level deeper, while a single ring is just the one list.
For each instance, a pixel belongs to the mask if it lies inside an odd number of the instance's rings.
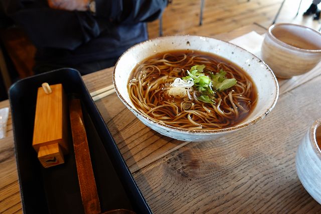
[{"label": "beige ceramic cup of tea behind the noodle bowl, upper right", "polygon": [[321,61],[321,34],[300,25],[275,24],[264,37],[261,54],[275,76],[291,78]]}]

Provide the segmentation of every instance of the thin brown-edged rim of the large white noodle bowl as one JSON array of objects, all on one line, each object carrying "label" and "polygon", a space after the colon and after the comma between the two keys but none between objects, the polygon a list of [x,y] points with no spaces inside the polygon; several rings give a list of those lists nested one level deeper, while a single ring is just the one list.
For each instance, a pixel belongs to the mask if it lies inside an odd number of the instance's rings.
[{"label": "thin brown-edged rim of the large white noodle bowl", "polygon": [[[139,112],[138,110],[134,109],[131,107],[131,105],[124,99],[124,97],[122,97],[122,95],[119,93],[118,89],[117,89],[117,86],[116,86],[116,82],[115,82],[115,71],[116,71],[116,68],[117,68],[117,64],[120,60],[120,58],[125,55],[127,52],[129,52],[131,49],[134,49],[136,46],[139,46],[139,45],[142,45],[144,43],[148,43],[148,42],[153,42],[153,41],[157,41],[157,40],[165,40],[165,39],[169,39],[169,38],[177,38],[177,37],[182,37],[182,38],[186,38],[186,37],[201,37],[201,38],[206,38],[206,39],[210,39],[210,40],[218,40],[218,41],[221,41],[223,43],[227,43],[228,45],[232,45],[232,46],[236,46],[237,48],[249,53],[250,55],[252,55],[254,58],[258,59],[259,60],[259,63],[262,63],[264,64],[264,66],[266,66],[267,70],[268,70],[268,73],[271,75],[273,81],[274,81],[274,84],[275,84],[275,87],[276,87],[276,93],[275,93],[275,96],[274,96],[274,100],[272,102],[272,104],[269,106],[269,108],[266,110],[266,112],[264,112],[262,115],[258,116],[257,118],[243,124],[243,125],[236,125],[235,127],[229,127],[229,128],[224,128],[224,129],[214,129],[214,130],[189,130],[189,129],[182,129],[182,128],[177,128],[177,127],[172,127],[170,125],[166,125],[166,124],[163,124],[163,123],[160,123],[160,122],[157,122],[149,117],[146,117],[145,115],[143,115],[141,112]],[[191,49],[192,50],[192,49]],[[237,45],[234,45],[232,43],[229,43],[229,42],[226,42],[226,41],[223,41],[223,40],[220,40],[220,39],[215,39],[215,38],[210,38],[210,37],[204,37],[204,36],[197,36],[197,35],[176,35],[176,36],[165,36],[165,37],[157,37],[155,39],[149,39],[149,40],[146,40],[146,41],[143,41],[143,42],[140,42],[134,46],[132,46],[131,48],[129,48],[128,50],[126,50],[117,60],[116,64],[115,64],[115,67],[114,67],[114,71],[113,71],[113,75],[112,75],[112,80],[113,80],[113,84],[114,84],[114,88],[115,88],[115,91],[118,95],[118,97],[121,99],[121,101],[127,106],[128,109],[134,111],[136,114],[140,115],[141,117],[143,117],[144,119],[150,121],[151,123],[154,123],[154,124],[157,124],[161,127],[164,127],[164,128],[168,128],[168,129],[171,129],[175,132],[184,132],[184,133],[193,133],[193,134],[204,134],[204,133],[222,133],[222,132],[232,132],[232,131],[236,131],[236,130],[239,130],[239,129],[243,129],[245,127],[248,127],[248,126],[251,126],[251,125],[254,125],[256,124],[257,122],[259,122],[260,120],[262,120],[263,118],[265,118],[265,116],[267,116],[271,110],[274,108],[275,104],[276,104],[276,101],[278,99],[278,96],[279,96],[279,85],[278,85],[278,82],[277,82],[277,79],[273,73],[273,71],[270,69],[270,67],[263,61],[261,60],[260,58],[258,58],[257,56],[255,56],[254,54],[248,52],[247,50],[245,50],[244,48],[241,48]],[[128,82],[128,79],[127,79],[127,82]],[[126,83],[127,84],[127,83]]]}]

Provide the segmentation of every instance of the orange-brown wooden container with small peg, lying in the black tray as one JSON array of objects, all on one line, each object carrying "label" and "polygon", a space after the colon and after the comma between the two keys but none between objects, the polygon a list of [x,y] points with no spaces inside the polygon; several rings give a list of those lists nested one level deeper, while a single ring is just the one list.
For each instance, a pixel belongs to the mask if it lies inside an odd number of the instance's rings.
[{"label": "orange-brown wooden container with small peg, lying in the black tray", "polygon": [[[50,87],[51,93],[48,94],[42,87],[38,88],[32,145],[38,157],[44,157],[44,160],[46,160],[45,157],[53,159],[55,157],[61,164],[63,154],[68,153],[68,106],[62,84],[50,85]],[[40,149],[41,155],[39,155]],[[42,160],[40,162],[44,167],[54,166],[54,164],[44,164],[45,161]]]}]

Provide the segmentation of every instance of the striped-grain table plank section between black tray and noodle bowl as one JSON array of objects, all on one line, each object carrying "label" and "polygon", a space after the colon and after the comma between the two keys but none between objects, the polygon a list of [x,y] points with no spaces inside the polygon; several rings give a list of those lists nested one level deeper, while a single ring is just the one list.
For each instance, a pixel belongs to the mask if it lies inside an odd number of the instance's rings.
[{"label": "striped-grain table plank section between black tray and noodle bowl", "polygon": [[[163,136],[143,125],[121,103],[116,94],[95,103],[132,173],[187,144]],[[112,108],[112,104],[117,108]]]}]

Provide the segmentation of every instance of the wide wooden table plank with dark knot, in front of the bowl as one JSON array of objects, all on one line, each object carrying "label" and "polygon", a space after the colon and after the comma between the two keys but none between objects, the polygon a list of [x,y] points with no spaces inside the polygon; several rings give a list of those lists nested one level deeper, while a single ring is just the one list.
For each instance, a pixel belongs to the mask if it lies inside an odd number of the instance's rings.
[{"label": "wide wooden table plank with dark knot, in front of the bowl", "polygon": [[155,213],[315,213],[321,205],[295,171],[297,146],[321,117],[321,76],[280,95],[257,125],[190,143],[134,173]]}]

